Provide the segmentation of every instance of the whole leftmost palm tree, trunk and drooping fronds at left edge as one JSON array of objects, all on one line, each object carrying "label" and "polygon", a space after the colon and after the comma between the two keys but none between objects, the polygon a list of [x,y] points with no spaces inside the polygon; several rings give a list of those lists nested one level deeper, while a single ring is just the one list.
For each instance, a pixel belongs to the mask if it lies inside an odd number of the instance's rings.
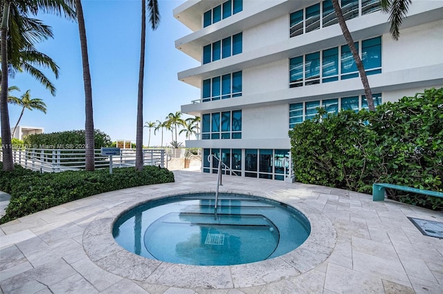
[{"label": "whole leftmost palm tree, trunk and drooping fronds at left edge", "polygon": [[[36,35],[33,32],[33,27],[26,26],[24,23],[28,19],[29,15],[37,15],[38,12],[51,12],[57,15],[64,14],[65,17],[73,19],[75,17],[75,12],[73,10],[72,0],[3,0],[3,14],[1,17],[1,37],[0,37],[0,47],[1,47],[1,86],[3,89],[0,91],[0,116],[1,116],[1,137],[3,137],[3,170],[14,170],[14,164],[12,161],[12,148],[11,146],[11,133],[10,133],[10,121],[9,121],[9,111],[8,111],[8,66],[12,68],[15,63],[10,63],[17,54],[22,54],[23,51],[28,50],[28,53],[21,55],[21,61],[30,61],[32,64],[45,65],[42,63],[42,57],[46,55],[36,54],[34,48],[35,42],[41,39],[42,35]],[[10,11],[12,14],[10,17]],[[16,13],[17,12],[17,13]],[[10,26],[10,20],[12,21]],[[17,22],[17,20],[19,20]],[[32,23],[32,21],[31,21]],[[34,22],[35,24],[36,22]],[[17,24],[18,30],[14,30],[15,24]],[[9,29],[11,28],[11,31]],[[35,27],[34,27],[35,28]],[[30,32],[31,31],[31,32]],[[16,32],[12,38],[8,32]],[[17,34],[18,32],[18,34]],[[46,30],[46,33],[48,31]],[[39,37],[40,36],[40,37]],[[9,40],[9,42],[8,42]],[[10,47],[10,48],[8,48]],[[8,58],[8,49],[10,49],[11,58]],[[45,58],[43,58],[45,59]],[[52,60],[52,59],[51,59]],[[26,62],[22,63],[25,64]],[[50,62],[51,63],[51,62]],[[50,64],[48,63],[48,64]],[[51,70],[54,70],[54,66],[49,66]],[[37,77],[39,81],[42,80],[42,75],[39,75],[38,70],[32,66],[23,66],[24,70],[27,70]],[[40,72],[41,73],[41,72]],[[37,76],[36,76],[37,75]],[[44,75],[43,75],[44,76]]]}]

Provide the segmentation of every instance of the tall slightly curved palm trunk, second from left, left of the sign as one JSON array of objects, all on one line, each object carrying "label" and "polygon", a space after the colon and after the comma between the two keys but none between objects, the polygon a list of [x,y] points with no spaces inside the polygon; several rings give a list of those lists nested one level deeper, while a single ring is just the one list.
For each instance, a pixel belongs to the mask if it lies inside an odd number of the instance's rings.
[{"label": "tall slightly curved palm trunk, second from left, left of the sign", "polygon": [[85,168],[94,170],[94,122],[92,108],[91,73],[89,72],[88,45],[86,39],[86,28],[84,26],[83,8],[80,0],[75,0],[75,10],[78,18],[78,31],[80,35],[80,47],[82,49],[83,84],[84,84],[84,112],[86,120],[84,123],[85,144]]}]

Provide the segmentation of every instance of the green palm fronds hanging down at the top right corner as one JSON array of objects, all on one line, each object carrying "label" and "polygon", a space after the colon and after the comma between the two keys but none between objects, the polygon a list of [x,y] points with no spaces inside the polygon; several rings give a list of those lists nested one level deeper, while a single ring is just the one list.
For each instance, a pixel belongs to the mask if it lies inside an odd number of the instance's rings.
[{"label": "green palm fronds hanging down at the top right corner", "polygon": [[412,2],[412,0],[381,0],[381,10],[386,13],[389,12],[389,31],[391,33],[392,39],[395,39],[396,41],[400,37],[399,30],[401,22],[406,17],[409,5]]}]

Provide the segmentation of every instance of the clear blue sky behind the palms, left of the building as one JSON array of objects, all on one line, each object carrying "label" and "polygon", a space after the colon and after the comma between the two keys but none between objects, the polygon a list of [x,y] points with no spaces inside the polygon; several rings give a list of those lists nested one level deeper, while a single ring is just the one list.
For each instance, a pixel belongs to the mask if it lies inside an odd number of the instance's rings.
[{"label": "clear blue sky behind the palms, left of the building", "polygon": [[[199,99],[199,89],[177,79],[177,72],[199,66],[199,63],[177,50],[174,41],[191,31],[172,15],[184,1],[159,0],[161,21],[152,31],[147,27],[143,121],[164,121],[182,104]],[[140,60],[141,1],[83,0],[87,29],[89,65],[91,68],[94,126],[111,139],[136,139],[136,106],[138,63]],[[54,39],[39,43],[37,49],[60,66],[60,77],[44,70],[53,81],[57,93],[53,97],[46,88],[26,72],[9,79],[9,86],[21,92],[30,90],[31,97],[43,99],[48,111],[25,110],[22,126],[43,127],[45,133],[84,129],[84,87],[78,24],[53,15],[39,15],[53,28]],[[19,117],[19,106],[9,107],[13,128]],[[184,116],[188,117],[188,116]],[[149,131],[145,128],[143,144]],[[163,145],[171,141],[165,131]],[[184,144],[184,137],[179,138]],[[151,146],[161,144],[161,135],[151,135]]]}]

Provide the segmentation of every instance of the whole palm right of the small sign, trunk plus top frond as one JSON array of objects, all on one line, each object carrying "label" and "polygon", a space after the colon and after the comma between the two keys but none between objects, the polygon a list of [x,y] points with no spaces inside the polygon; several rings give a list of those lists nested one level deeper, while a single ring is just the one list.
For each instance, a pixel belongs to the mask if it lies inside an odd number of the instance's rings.
[{"label": "whole palm right of the small sign, trunk plus top frond", "polygon": [[150,12],[152,30],[156,30],[160,22],[159,2],[157,0],[141,0],[141,50],[140,70],[138,71],[137,95],[137,131],[136,131],[136,169],[143,168],[143,77],[145,75],[145,41],[146,41],[146,5]]}]

